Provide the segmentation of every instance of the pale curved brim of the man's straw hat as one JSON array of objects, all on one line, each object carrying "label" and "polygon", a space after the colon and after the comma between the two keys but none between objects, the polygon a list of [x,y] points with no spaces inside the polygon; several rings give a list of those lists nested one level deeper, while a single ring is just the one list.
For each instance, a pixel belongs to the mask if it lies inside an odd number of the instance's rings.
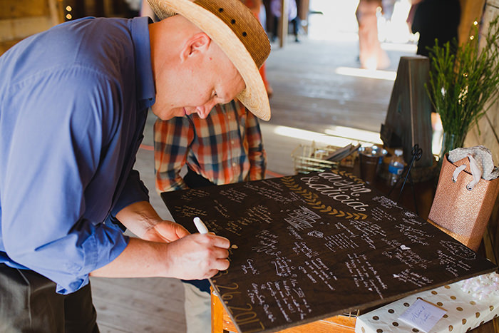
[{"label": "pale curved brim of the man's straw hat", "polygon": [[259,68],[242,41],[222,19],[190,0],[149,0],[149,2],[157,15],[158,11],[164,14],[163,17],[171,16],[173,12],[180,14],[210,36],[232,61],[245,81],[246,88],[237,99],[258,118],[264,121],[270,119],[269,97]]}]

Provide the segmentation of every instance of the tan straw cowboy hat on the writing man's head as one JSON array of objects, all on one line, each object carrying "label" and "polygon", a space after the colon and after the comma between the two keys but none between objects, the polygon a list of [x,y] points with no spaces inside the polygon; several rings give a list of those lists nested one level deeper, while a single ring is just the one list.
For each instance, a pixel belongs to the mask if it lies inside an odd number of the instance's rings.
[{"label": "tan straw cowboy hat on the writing man's head", "polygon": [[258,71],[270,53],[267,34],[240,0],[148,0],[159,19],[180,14],[204,31],[237,68],[246,88],[237,98],[258,118],[270,119],[267,91]]}]

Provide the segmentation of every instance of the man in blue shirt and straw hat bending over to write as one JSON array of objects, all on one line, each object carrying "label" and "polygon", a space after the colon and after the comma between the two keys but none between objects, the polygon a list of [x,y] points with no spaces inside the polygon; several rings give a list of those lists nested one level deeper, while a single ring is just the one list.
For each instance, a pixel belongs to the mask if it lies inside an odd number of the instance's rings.
[{"label": "man in blue shirt and straw hat bending over to write", "polygon": [[150,2],[163,21],[79,19],[0,57],[0,332],[98,332],[89,275],[229,265],[229,240],[158,216],[133,164],[148,108],[205,118],[238,96],[268,119],[269,41],[239,0]]}]

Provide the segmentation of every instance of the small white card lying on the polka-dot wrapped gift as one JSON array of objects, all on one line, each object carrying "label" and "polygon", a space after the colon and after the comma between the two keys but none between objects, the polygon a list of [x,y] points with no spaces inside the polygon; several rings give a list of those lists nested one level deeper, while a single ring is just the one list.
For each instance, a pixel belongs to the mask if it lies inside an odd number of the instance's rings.
[{"label": "small white card lying on the polka-dot wrapped gift", "polygon": [[423,332],[429,332],[444,314],[446,310],[418,298],[406,312],[403,312],[400,319]]}]

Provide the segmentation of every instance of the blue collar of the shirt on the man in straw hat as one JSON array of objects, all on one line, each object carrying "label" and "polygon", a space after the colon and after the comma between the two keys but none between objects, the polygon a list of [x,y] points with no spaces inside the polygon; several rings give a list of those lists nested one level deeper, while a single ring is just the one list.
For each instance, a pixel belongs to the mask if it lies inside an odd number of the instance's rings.
[{"label": "blue collar of the shirt on the man in straw hat", "polygon": [[135,48],[135,77],[140,108],[150,108],[155,102],[153,65],[150,58],[148,17],[135,17],[131,21],[131,34]]}]

